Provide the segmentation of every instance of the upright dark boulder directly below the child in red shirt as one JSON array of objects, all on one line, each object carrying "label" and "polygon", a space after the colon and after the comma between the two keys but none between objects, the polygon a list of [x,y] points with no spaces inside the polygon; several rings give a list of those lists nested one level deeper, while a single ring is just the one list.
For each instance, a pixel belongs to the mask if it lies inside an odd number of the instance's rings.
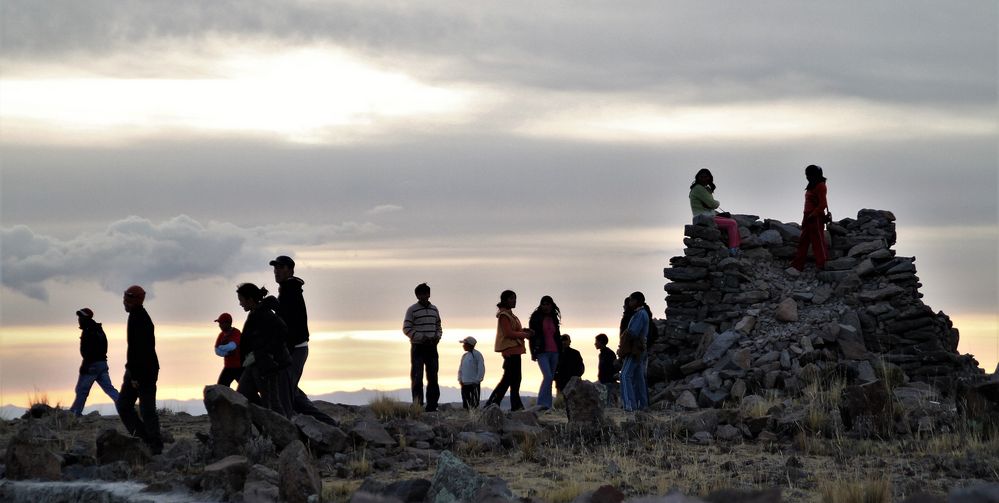
[{"label": "upright dark boulder directly below the child in red shirt", "polygon": [[245,454],[246,441],[253,434],[250,402],[228,386],[205,386],[205,410],[211,422],[212,454],[223,458]]}]

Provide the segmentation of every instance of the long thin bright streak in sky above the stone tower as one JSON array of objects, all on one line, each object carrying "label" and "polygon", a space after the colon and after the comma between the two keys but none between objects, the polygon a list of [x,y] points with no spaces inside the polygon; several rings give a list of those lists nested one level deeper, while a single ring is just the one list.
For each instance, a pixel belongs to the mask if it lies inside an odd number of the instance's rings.
[{"label": "long thin bright streak in sky above the stone tower", "polygon": [[[599,101],[594,100],[594,103]],[[529,136],[587,141],[787,140],[815,135],[909,138],[927,134],[995,135],[997,121],[978,110],[936,110],[855,99],[664,106],[622,102],[568,107],[527,122]]]}]

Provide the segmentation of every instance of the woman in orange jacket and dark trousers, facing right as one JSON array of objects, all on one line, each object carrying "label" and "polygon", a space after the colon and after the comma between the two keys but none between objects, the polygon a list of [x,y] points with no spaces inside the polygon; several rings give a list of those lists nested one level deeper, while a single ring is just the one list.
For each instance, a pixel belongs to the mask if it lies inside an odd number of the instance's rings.
[{"label": "woman in orange jacket and dark trousers, facing right", "polygon": [[496,304],[496,344],[493,349],[503,355],[503,378],[496,389],[486,400],[486,406],[499,405],[506,391],[510,390],[510,410],[524,408],[520,401],[520,355],[527,352],[524,340],[531,336],[531,330],[525,329],[520,318],[513,314],[517,307],[517,294],[512,290],[504,290],[500,294],[499,304]]}]

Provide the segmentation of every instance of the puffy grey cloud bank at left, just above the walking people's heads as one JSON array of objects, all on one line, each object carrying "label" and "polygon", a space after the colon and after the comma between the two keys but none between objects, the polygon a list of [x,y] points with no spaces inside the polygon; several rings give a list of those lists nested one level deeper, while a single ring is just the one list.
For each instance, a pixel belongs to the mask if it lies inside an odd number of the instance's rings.
[{"label": "puffy grey cloud bank at left, just above the walking people's heads", "polygon": [[152,291],[158,282],[259,270],[273,256],[273,249],[318,245],[377,230],[373,224],[356,222],[241,228],[220,222],[201,224],[186,215],[158,224],[130,216],[102,233],[60,240],[16,225],[0,229],[2,284],[42,301],[48,300],[44,283],[49,280],[96,280],[112,293],[132,284]]}]

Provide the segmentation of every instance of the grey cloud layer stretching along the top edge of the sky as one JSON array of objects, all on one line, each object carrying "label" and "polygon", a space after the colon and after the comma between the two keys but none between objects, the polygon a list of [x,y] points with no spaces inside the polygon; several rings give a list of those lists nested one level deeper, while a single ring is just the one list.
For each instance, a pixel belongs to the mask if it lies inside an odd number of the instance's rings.
[{"label": "grey cloud layer stretching along the top edge of the sky", "polygon": [[[999,6],[960,2],[400,4],[35,2],[0,6],[8,58],[211,37],[331,43],[427,80],[626,92],[655,102],[996,98]],[[161,47],[159,50],[163,50]]]}]

